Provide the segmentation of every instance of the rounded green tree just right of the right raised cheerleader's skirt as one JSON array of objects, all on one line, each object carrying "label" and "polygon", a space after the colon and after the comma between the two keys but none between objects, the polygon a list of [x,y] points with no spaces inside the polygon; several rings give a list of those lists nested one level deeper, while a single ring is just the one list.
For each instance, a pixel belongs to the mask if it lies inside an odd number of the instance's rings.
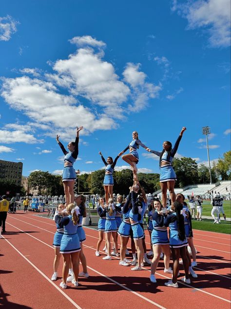
[{"label": "rounded green tree just right of the right raised cheerleader's skirt", "polygon": [[174,158],[173,168],[177,177],[176,187],[183,188],[188,184],[198,183],[198,166],[192,158]]}]

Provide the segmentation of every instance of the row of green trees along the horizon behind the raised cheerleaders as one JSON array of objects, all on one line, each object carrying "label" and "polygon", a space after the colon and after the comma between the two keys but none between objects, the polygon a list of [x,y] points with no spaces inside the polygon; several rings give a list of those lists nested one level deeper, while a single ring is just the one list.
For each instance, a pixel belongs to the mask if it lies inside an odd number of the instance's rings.
[{"label": "row of green trees along the horizon behind the raised cheerleaders", "polygon": [[[177,175],[175,187],[183,188],[189,184],[202,184],[210,182],[209,168],[204,164],[197,164],[190,157],[181,157],[173,159],[173,168]],[[221,180],[231,179],[231,151],[225,153],[223,157],[214,163],[211,169],[212,183]],[[77,178],[78,192],[92,192],[99,195],[104,194],[103,178],[105,171],[97,170],[91,174],[82,174]],[[144,191],[153,193],[160,189],[159,174],[139,173],[138,179]],[[38,187],[40,194],[46,195],[63,195],[62,177],[55,176],[48,172],[36,171],[32,172],[28,177],[30,187]],[[114,188],[115,194],[128,194],[129,186],[133,184],[133,173],[130,169],[120,172],[114,172]]]}]

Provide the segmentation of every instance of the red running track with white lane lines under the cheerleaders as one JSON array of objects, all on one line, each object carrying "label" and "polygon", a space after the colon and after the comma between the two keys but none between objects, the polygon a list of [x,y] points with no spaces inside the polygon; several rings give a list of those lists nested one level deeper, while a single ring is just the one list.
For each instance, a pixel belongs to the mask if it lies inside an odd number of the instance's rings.
[{"label": "red running track with white lane lines under the cheerleaders", "polygon": [[[179,288],[172,288],[164,286],[171,274],[163,272],[163,260],[157,267],[157,284],[153,284],[149,280],[150,266],[143,267],[142,271],[131,271],[130,267],[119,266],[116,257],[112,261],[102,260],[103,251],[96,257],[98,232],[85,228],[84,253],[90,277],[79,278],[79,287],[69,283],[63,290],[59,287],[62,261],[59,279],[50,280],[54,221],[17,212],[7,216],[6,230],[9,233],[0,240],[0,305],[6,309],[231,307],[231,238],[228,234],[194,230],[193,241],[198,251],[198,265],[194,270],[198,278],[191,278],[190,285],[179,280]],[[150,250],[149,236],[146,243]],[[182,276],[182,268],[180,273]]]}]

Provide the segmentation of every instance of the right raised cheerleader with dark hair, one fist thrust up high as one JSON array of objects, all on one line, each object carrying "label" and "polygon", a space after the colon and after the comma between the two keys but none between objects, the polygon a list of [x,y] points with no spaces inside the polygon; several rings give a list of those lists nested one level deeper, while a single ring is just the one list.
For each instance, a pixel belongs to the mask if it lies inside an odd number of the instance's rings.
[{"label": "right raised cheerleader with dark hair, one fist thrust up high", "polygon": [[174,192],[174,185],[176,180],[176,175],[172,167],[173,157],[176,154],[178,149],[180,140],[182,138],[183,133],[185,132],[186,128],[183,127],[179,137],[177,138],[175,145],[172,149],[172,144],[169,141],[165,141],[163,143],[163,150],[161,153],[150,150],[147,148],[147,151],[158,155],[160,157],[159,165],[160,165],[160,188],[162,191],[162,201],[163,206],[166,207],[167,205],[167,190],[170,192],[172,203],[175,201],[175,192]]}]

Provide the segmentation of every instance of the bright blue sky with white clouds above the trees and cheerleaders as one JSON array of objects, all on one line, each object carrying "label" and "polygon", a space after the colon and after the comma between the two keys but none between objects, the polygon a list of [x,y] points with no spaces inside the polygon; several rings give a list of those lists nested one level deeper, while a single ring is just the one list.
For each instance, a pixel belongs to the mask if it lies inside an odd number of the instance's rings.
[{"label": "bright blue sky with white clouds above the trees and cheerleaders", "polygon": [[[6,1],[0,4],[0,159],[60,174],[56,134],[80,132],[75,168],[103,167],[132,132],[149,148],[207,163],[230,150],[230,0]],[[139,149],[138,172],[158,173]],[[117,170],[127,167],[119,159]]]}]

